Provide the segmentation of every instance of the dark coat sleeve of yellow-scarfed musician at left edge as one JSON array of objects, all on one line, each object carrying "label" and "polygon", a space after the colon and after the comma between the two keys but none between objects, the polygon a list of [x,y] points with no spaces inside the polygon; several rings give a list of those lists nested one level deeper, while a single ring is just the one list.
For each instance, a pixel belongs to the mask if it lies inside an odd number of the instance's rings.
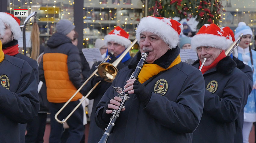
[{"label": "dark coat sleeve of yellow-scarfed musician at left edge", "polygon": [[0,111],[10,120],[19,123],[33,121],[39,112],[37,82],[33,69],[23,63],[17,92],[0,86]]}]

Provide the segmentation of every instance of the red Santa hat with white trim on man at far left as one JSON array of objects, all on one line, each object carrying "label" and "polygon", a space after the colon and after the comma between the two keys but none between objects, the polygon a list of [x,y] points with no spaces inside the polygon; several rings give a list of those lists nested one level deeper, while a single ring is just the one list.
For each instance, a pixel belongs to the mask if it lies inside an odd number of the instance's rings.
[{"label": "red Santa hat with white trim on man at far left", "polygon": [[0,12],[0,18],[2,21],[7,24],[11,28],[11,32],[13,33],[14,39],[18,40],[21,36],[20,30],[20,19],[14,17],[13,14]]}]

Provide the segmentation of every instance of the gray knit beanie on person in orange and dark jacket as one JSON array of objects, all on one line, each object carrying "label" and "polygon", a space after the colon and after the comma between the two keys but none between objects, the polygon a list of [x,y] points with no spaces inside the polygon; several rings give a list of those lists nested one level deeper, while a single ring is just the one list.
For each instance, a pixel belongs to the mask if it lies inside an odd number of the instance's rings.
[{"label": "gray knit beanie on person in orange and dark jacket", "polygon": [[56,24],[56,32],[61,33],[63,35],[67,35],[73,29],[75,29],[75,26],[73,25],[72,22],[70,22],[67,19],[61,19]]}]

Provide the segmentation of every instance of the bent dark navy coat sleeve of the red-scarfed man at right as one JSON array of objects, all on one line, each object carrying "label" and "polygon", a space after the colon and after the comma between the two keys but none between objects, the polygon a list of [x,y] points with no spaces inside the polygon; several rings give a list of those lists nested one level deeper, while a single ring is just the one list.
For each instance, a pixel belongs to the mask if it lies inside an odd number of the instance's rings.
[{"label": "bent dark navy coat sleeve of the red-scarfed man at right", "polygon": [[238,113],[243,109],[243,98],[248,91],[247,79],[244,73],[234,75],[226,83],[222,95],[211,94],[205,90],[204,113],[215,121],[224,123],[235,121]]}]

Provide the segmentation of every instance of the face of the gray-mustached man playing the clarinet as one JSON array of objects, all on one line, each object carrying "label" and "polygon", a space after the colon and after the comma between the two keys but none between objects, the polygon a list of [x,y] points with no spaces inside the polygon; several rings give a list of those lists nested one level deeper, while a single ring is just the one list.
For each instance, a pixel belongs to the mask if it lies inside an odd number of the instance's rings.
[{"label": "face of the gray-mustached man playing the clarinet", "polygon": [[142,32],[139,41],[140,52],[149,52],[146,62],[154,63],[155,60],[163,56],[168,50],[166,44],[160,37],[151,32]]}]

